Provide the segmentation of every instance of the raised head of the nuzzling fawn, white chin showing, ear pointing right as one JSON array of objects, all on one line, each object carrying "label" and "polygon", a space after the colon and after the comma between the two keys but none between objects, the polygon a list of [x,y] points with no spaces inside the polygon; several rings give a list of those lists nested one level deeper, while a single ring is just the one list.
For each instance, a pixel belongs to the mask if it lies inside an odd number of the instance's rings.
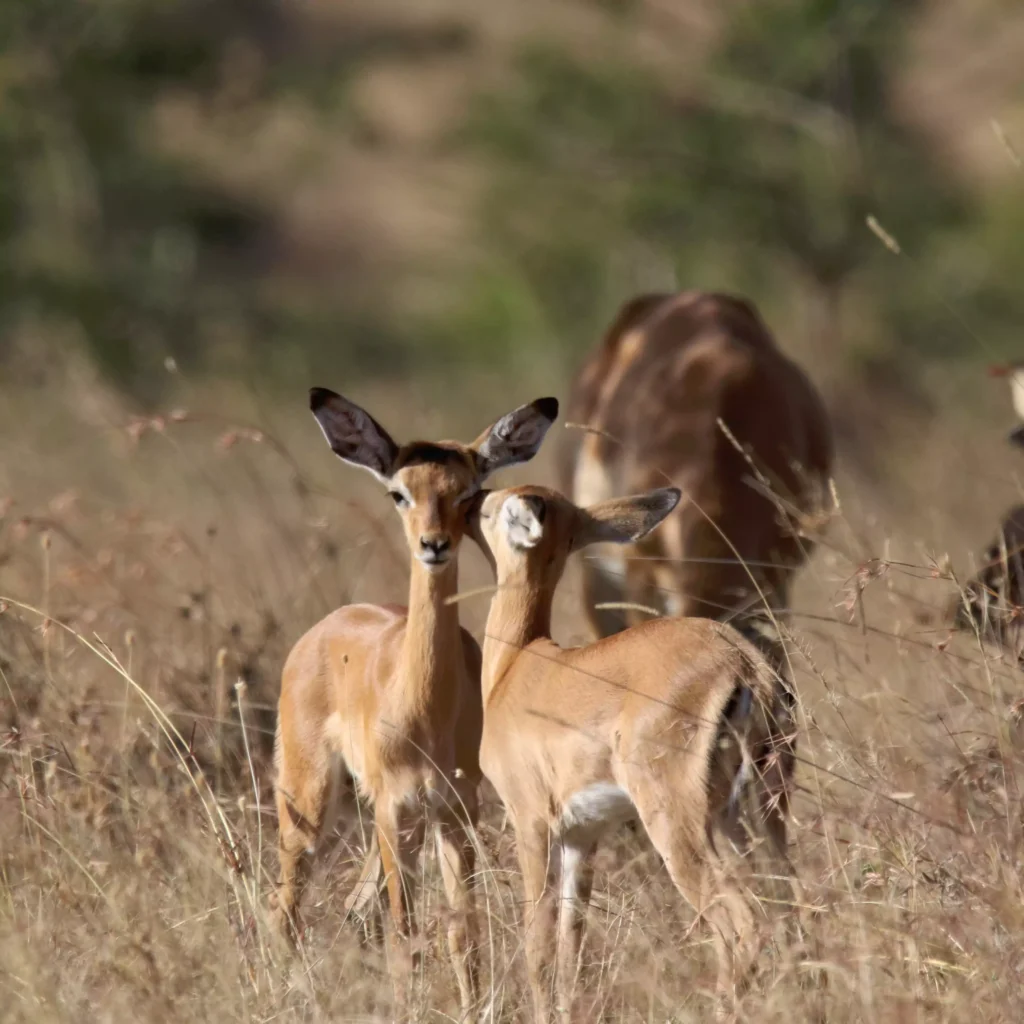
[{"label": "raised head of the nuzzling fawn, white chin showing, ear pointing right", "polygon": [[525,574],[553,588],[573,551],[639,541],[672,512],[681,494],[678,487],[660,487],[580,508],[548,487],[492,490],[476,504],[471,536],[499,584]]}]

